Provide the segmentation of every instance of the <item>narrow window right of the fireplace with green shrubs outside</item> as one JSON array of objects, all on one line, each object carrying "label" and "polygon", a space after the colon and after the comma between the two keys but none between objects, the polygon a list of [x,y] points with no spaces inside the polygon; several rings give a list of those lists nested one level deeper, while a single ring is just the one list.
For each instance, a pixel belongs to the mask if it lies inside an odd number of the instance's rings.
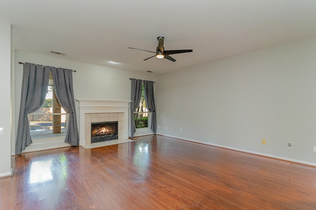
[{"label": "narrow window right of the fireplace with green shrubs outside", "polygon": [[145,103],[144,84],[142,87],[142,97],[139,102],[139,106],[134,111],[134,122],[137,128],[148,128],[148,110]]}]

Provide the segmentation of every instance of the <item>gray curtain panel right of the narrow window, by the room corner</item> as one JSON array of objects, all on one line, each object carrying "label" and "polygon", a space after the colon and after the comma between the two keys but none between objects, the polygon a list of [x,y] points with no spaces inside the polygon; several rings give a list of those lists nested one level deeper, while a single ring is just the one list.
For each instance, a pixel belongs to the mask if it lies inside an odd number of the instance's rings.
[{"label": "gray curtain panel right of the narrow window, by the room corner", "polygon": [[157,120],[156,120],[156,105],[155,105],[155,94],[154,94],[154,82],[144,80],[144,94],[146,107],[149,112],[152,112],[150,129],[156,134]]}]

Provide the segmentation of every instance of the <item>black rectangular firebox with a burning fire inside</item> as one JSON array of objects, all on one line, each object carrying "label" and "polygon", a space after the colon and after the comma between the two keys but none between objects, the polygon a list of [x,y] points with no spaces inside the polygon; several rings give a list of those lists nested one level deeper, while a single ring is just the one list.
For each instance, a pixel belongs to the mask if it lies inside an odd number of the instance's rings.
[{"label": "black rectangular firebox with a burning fire inside", "polygon": [[118,121],[91,123],[91,143],[117,139]]}]

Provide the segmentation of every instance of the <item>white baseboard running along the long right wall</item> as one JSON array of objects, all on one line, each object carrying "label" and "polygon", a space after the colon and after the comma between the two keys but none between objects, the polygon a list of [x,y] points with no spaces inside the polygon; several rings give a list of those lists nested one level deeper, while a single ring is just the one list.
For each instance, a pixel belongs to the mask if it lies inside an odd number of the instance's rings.
[{"label": "white baseboard running along the long right wall", "polygon": [[179,140],[187,140],[187,141],[207,144],[207,145],[211,145],[211,146],[217,146],[217,147],[226,148],[226,149],[232,149],[232,150],[236,150],[236,151],[240,151],[240,152],[246,152],[246,153],[250,153],[250,154],[261,155],[261,156],[265,156],[265,157],[276,158],[279,160],[290,161],[290,162],[294,162],[294,163],[299,163],[299,164],[304,164],[304,165],[316,167],[316,163],[313,163],[313,162],[307,162],[307,161],[302,161],[302,160],[297,160],[297,159],[292,159],[292,158],[287,158],[287,157],[282,157],[282,156],[276,156],[276,155],[271,155],[271,154],[267,154],[267,153],[255,152],[255,151],[246,150],[246,149],[239,149],[239,148],[235,148],[235,147],[231,147],[231,146],[224,146],[221,144],[209,143],[209,142],[205,142],[205,141],[186,139],[186,138],[182,138],[182,137],[174,137],[174,136],[164,135],[164,134],[157,134],[157,135],[164,136],[164,137],[170,137],[170,138],[174,138],[174,139],[179,139]]}]

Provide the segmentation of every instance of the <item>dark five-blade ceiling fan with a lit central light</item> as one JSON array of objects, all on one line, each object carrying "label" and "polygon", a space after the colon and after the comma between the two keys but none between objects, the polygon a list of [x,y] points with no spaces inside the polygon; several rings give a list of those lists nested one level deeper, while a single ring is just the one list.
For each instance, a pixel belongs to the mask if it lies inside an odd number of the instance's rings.
[{"label": "dark five-blade ceiling fan with a lit central light", "polygon": [[[146,59],[144,59],[144,61],[156,56],[157,58],[165,58],[165,59],[168,59],[170,61],[175,62],[176,60],[174,58],[172,58],[171,56],[169,56],[169,55],[179,54],[179,53],[186,53],[186,52],[193,52],[193,50],[164,50],[164,47],[163,47],[164,37],[163,36],[158,36],[157,39],[158,39],[158,47],[156,49],[156,52],[149,51],[149,50],[143,50],[143,51],[146,51],[146,52],[155,53],[156,55],[154,55],[152,57],[149,57],[149,58],[146,58]],[[135,50],[142,50],[142,49],[137,49],[137,48],[132,48],[132,47],[128,47],[128,48],[129,49],[135,49]]]}]

